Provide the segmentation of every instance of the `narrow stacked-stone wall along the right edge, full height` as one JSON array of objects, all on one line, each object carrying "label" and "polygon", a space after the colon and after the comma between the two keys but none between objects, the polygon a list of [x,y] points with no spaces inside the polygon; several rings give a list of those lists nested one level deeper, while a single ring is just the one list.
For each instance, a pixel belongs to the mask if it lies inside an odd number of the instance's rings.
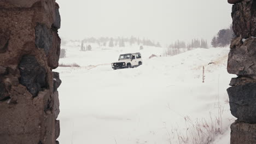
[{"label": "narrow stacked-stone wall along the right edge, full height", "polygon": [[236,74],[228,88],[231,144],[256,143],[256,1],[228,0],[232,6],[235,38],[231,42],[228,72]]}]

